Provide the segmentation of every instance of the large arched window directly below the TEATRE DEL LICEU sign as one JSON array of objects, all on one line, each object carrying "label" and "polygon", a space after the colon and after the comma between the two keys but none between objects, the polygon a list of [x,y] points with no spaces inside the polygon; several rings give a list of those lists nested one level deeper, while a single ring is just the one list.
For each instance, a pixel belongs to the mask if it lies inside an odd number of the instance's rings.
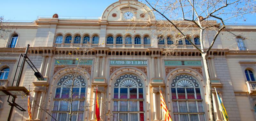
[{"label": "large arched window directly below the TEATRE DEL LICEU sign", "polygon": [[133,74],[121,75],[114,83],[113,121],[144,121],[142,80]]}]

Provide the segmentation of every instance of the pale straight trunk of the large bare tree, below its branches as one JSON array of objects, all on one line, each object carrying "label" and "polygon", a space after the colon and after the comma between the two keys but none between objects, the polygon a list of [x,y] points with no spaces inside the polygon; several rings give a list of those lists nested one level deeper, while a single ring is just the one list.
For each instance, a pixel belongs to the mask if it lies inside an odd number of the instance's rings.
[{"label": "pale straight trunk of the large bare tree, below its branches", "polygon": [[213,108],[213,100],[212,100],[212,83],[210,80],[210,72],[208,68],[208,62],[207,62],[207,53],[202,54],[203,57],[203,65],[204,65],[204,71],[206,76],[206,98],[208,99],[209,104],[209,113],[210,113],[210,120],[215,121],[214,117],[214,108]]}]

